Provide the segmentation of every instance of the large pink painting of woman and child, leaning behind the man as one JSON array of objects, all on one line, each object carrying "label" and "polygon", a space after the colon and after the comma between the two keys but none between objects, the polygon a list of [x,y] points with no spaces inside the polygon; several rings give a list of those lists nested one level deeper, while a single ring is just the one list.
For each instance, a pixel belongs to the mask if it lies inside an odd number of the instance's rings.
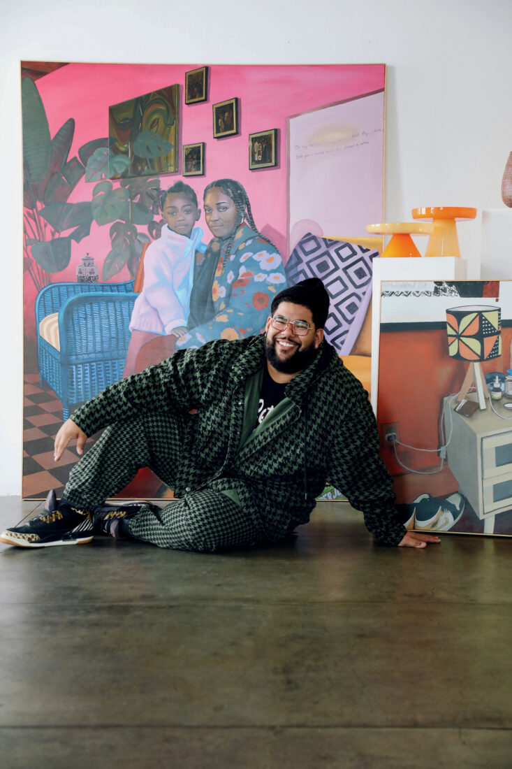
[{"label": "large pink painting of woman and child, leaning behind the man", "polygon": [[[384,65],[45,70],[22,62],[24,498],[62,491],[77,456],[55,465],[52,443],[79,404],[176,350],[258,334],[305,277],[327,285],[327,338],[369,389]],[[169,494],[140,472],[120,495]]]}]

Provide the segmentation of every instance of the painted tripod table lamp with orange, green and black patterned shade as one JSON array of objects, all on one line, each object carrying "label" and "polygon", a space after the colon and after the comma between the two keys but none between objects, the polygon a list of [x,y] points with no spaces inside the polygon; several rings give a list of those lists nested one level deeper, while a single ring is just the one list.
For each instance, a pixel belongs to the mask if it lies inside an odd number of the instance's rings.
[{"label": "painted tripod table lamp with orange, green and black patterned shade", "polygon": [[448,353],[457,361],[469,361],[457,401],[466,398],[472,384],[477,390],[478,405],[485,404],[485,379],[480,361],[501,355],[501,311],[499,307],[467,305],[446,311]]}]

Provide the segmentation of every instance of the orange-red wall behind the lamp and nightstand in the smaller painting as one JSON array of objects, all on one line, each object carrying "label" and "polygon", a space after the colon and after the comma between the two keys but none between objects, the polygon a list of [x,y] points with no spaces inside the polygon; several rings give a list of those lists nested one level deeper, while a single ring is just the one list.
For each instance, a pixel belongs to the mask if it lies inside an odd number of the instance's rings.
[{"label": "orange-red wall behind the lamp and nightstand in the smaller painting", "polygon": [[[484,375],[490,371],[506,373],[509,368],[512,328],[502,328],[501,338],[502,355],[482,363]],[[379,431],[382,424],[398,422],[403,443],[417,448],[437,448],[441,400],[460,390],[467,365],[448,356],[444,328],[381,331],[377,398]],[[397,447],[397,453],[401,461],[414,470],[429,470],[440,464],[437,453],[427,454],[401,446]],[[399,494],[399,477],[411,474],[397,463],[393,448],[382,448],[381,457],[391,474],[396,476],[395,491]],[[420,485],[421,478],[418,476]],[[435,478],[447,492],[457,489],[457,481],[446,464],[440,476]]]}]

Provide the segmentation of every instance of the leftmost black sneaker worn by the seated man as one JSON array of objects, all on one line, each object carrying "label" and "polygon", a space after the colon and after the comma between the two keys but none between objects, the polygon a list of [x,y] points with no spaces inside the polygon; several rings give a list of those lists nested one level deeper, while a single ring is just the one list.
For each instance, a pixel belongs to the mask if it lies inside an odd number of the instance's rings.
[{"label": "leftmost black sneaker worn by the seated man", "polygon": [[27,524],[2,531],[0,542],[18,548],[49,548],[53,544],[87,544],[92,541],[92,535],[89,511],[71,508],[61,501],[53,510],[45,509]]}]

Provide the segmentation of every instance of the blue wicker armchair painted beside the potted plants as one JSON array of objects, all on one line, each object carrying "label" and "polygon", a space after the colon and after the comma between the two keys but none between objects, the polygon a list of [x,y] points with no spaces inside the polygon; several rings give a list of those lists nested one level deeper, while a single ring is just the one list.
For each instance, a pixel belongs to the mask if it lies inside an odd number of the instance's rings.
[{"label": "blue wicker armchair painted beside the potted plants", "polygon": [[[38,367],[62,401],[62,416],[121,379],[125,365],[134,281],[124,283],[54,283],[35,301]],[[58,313],[56,345],[40,334],[40,323]]]}]

